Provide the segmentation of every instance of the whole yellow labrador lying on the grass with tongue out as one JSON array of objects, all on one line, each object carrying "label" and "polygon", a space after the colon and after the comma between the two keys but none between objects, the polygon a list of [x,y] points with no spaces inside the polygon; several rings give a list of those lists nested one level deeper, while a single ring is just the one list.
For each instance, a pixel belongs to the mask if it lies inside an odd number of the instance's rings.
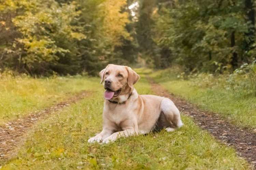
[{"label": "whole yellow labrador lying on the grass with tongue out", "polygon": [[146,134],[183,125],[174,103],[164,97],[139,95],[133,85],[140,76],[130,67],[109,64],[100,71],[103,83],[103,130],[88,142],[108,143],[121,136]]}]

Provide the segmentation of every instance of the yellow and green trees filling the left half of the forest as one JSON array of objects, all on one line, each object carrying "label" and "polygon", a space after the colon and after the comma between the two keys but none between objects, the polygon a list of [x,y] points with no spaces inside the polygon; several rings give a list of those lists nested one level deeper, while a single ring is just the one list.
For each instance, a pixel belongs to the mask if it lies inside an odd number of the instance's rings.
[{"label": "yellow and green trees filling the left half of the forest", "polygon": [[[29,74],[95,74],[133,46],[125,6],[125,0],[2,0],[0,32],[11,38],[1,35],[0,66]],[[119,64],[133,59],[126,55]]]}]

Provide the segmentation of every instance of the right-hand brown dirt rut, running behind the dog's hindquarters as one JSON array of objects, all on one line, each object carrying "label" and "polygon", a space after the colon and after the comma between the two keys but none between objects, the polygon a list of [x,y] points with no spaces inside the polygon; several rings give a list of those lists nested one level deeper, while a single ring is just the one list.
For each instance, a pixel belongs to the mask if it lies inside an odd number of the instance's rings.
[{"label": "right-hand brown dirt rut, running behind the dog's hindquarters", "polygon": [[152,89],[156,92],[156,95],[170,98],[182,114],[192,117],[195,123],[202,129],[207,130],[211,135],[225,143],[227,146],[232,146],[241,157],[244,157],[248,162],[254,165],[254,169],[256,169],[255,133],[238,128],[216,113],[200,110],[198,107],[186,102],[184,99],[170,94],[161,85],[154,83],[152,79],[148,79],[150,80]]}]

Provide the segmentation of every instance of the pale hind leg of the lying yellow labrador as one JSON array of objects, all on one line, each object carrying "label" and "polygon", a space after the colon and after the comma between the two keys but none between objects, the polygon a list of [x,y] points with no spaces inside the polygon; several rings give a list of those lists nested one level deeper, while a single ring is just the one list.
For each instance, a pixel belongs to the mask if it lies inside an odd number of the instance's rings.
[{"label": "pale hind leg of the lying yellow labrador", "polygon": [[164,98],[161,101],[160,108],[162,111],[162,119],[165,119],[162,122],[164,123],[163,126],[165,126],[166,131],[174,131],[183,125],[180,111],[170,99]]}]

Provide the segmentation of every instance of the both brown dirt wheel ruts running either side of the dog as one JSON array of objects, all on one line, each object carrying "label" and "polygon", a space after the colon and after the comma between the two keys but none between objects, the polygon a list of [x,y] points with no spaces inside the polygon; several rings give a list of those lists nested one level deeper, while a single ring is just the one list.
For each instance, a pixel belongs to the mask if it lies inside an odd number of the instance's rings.
[{"label": "both brown dirt wheel ruts running either side of the dog", "polygon": [[[202,111],[195,105],[170,94],[161,85],[154,83],[152,79],[149,80],[151,82],[152,89],[156,92],[156,95],[170,98],[182,114],[192,117],[198,126],[209,131],[210,134],[225,145],[232,146],[240,156],[244,157],[249,163],[254,165],[254,168],[256,168],[255,133],[246,129],[238,128],[227,120],[224,120],[216,113]],[[22,119],[13,120],[5,125],[1,125],[0,160],[7,160],[17,153],[16,149],[23,143],[24,136],[36,122],[45,119],[47,115],[60,111],[71,103],[75,103],[83,99],[89,94],[90,93],[86,91],[82,91],[65,102],[58,103],[55,106],[46,108],[40,112],[31,113]]]}]

